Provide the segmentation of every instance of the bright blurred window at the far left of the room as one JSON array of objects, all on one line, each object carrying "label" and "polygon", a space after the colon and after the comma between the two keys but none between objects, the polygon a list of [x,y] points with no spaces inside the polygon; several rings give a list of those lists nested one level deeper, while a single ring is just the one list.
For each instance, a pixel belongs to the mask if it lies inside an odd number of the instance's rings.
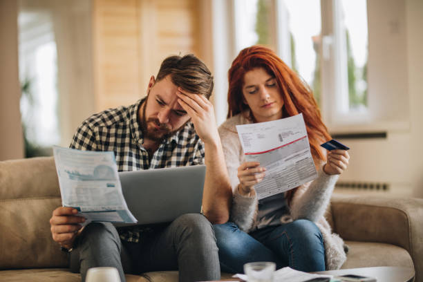
[{"label": "bright blurred window at the far left of the room", "polygon": [[47,12],[19,13],[19,72],[26,157],[49,155],[60,136],[57,50]]}]

